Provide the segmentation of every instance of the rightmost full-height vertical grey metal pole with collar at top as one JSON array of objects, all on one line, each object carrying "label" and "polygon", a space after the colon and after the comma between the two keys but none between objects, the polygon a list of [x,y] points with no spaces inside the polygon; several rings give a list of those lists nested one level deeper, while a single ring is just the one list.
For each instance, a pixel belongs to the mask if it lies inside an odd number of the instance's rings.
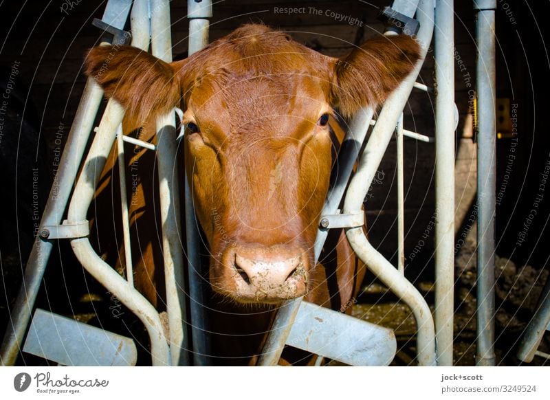
[{"label": "rightmost full-height vertical grey metal pole with collar at top", "polygon": [[477,346],[476,362],[494,366],[494,216],[496,193],[496,0],[474,1],[477,82]]}]

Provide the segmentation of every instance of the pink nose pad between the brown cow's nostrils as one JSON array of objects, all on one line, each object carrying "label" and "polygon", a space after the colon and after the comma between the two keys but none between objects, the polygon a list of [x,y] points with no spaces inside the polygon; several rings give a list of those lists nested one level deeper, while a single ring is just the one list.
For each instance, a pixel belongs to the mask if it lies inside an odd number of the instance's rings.
[{"label": "pink nose pad between the brown cow's nostrils", "polygon": [[298,275],[300,257],[286,260],[251,260],[239,254],[235,255],[235,269],[248,285],[257,287],[277,287],[284,285],[289,278]]}]

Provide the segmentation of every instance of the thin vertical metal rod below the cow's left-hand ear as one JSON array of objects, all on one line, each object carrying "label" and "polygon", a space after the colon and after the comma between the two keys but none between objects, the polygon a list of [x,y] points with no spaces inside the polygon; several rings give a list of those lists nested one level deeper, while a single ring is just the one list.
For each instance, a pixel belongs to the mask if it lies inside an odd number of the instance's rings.
[{"label": "thin vertical metal rod below the cow's left-hand ear", "polygon": [[128,195],[126,194],[126,162],[124,161],[124,133],[122,124],[117,128],[116,145],[118,152],[118,175],[120,180],[120,208],[122,212],[122,236],[124,241],[124,264],[126,280],[133,286],[132,245],[130,242],[130,217],[128,214]]}]

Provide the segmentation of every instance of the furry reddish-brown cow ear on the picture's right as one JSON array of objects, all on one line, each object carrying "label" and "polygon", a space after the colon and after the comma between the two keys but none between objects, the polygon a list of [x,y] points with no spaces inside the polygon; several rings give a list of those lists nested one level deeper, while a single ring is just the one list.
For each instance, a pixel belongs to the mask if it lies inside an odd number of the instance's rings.
[{"label": "furry reddish-brown cow ear on the picture's right", "polygon": [[375,108],[415,67],[420,46],[410,36],[380,36],[334,61],[331,104],[347,118]]}]

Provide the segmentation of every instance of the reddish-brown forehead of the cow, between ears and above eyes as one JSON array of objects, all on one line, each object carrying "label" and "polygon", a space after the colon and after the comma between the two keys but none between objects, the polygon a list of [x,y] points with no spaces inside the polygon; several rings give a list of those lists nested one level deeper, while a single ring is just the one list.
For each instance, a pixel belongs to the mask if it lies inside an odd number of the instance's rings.
[{"label": "reddish-brown forehead of the cow, between ears and above eyes", "polygon": [[327,104],[329,58],[263,25],[245,25],[212,43],[190,66],[186,104],[198,119],[215,116],[237,126],[285,115],[316,120]]}]

